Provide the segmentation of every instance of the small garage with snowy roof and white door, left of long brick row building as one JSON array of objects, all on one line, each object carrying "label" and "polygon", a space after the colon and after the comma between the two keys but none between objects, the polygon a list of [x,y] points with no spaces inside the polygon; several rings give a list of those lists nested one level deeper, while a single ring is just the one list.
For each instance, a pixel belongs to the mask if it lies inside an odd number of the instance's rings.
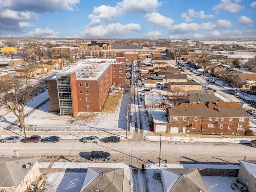
[{"label": "small garage with snowy roof and white door, left of long brick row building", "polygon": [[154,133],[167,133],[168,132],[168,120],[165,115],[152,114],[152,120],[154,123]]}]

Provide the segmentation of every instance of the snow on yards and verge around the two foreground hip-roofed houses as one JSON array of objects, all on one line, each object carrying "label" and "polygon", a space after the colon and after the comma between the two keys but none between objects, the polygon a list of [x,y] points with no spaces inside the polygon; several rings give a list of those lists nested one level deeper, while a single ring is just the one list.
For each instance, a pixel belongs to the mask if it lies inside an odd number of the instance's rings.
[{"label": "snow on yards and verge around the two foreground hip-roofed houses", "polygon": [[[46,167],[46,163],[39,163],[40,168]],[[49,166],[49,164],[48,164]],[[124,168],[124,176],[128,180],[132,178],[130,167],[122,163],[74,163],[74,162],[56,162],[51,168],[89,168],[89,167],[115,167]],[[145,191],[145,182],[147,182],[147,190],[163,192],[162,183],[156,180],[154,175],[161,173],[160,168],[228,168],[238,169],[238,165],[208,165],[208,164],[166,164],[166,167],[154,164],[149,165],[147,169],[138,174],[138,183],[140,184],[140,191]],[[46,184],[44,185],[44,192],[77,192],[81,189],[86,173],[75,172],[52,172],[47,174]],[[146,178],[145,178],[146,177]],[[237,192],[230,187],[230,183],[236,181],[236,177],[221,177],[221,176],[202,176],[209,192]]]}]

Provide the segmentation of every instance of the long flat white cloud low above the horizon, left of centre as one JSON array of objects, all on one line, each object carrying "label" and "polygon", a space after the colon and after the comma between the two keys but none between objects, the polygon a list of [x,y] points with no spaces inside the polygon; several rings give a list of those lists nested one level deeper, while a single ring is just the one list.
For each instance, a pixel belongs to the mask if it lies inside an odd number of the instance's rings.
[{"label": "long flat white cloud low above the horizon, left of centre", "polygon": [[86,28],[83,32],[80,32],[80,35],[86,38],[115,38],[115,37],[124,37],[126,34],[132,32],[141,32],[142,28],[140,24],[126,24],[122,25],[120,23],[109,24],[108,26],[94,26]]}]

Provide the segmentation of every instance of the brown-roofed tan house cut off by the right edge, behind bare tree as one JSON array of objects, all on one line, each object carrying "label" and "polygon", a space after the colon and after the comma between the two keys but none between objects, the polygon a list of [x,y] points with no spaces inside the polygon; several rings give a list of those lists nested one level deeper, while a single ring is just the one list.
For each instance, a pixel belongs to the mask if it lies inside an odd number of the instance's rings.
[{"label": "brown-roofed tan house cut off by the right edge, behind bare tree", "polygon": [[256,84],[256,74],[237,74],[233,77],[233,82],[236,85],[240,85],[242,90],[249,91],[251,86]]}]

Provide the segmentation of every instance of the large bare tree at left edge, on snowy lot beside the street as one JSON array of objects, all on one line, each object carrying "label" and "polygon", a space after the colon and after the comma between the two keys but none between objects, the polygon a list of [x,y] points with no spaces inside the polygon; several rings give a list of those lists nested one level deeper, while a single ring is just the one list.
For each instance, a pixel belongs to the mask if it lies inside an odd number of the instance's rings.
[{"label": "large bare tree at left edge, on snowy lot beside the street", "polygon": [[25,137],[24,108],[28,101],[44,87],[45,85],[42,84],[26,86],[26,81],[17,78],[8,81],[0,80],[0,104],[9,108],[18,118],[20,128],[24,128]]}]

